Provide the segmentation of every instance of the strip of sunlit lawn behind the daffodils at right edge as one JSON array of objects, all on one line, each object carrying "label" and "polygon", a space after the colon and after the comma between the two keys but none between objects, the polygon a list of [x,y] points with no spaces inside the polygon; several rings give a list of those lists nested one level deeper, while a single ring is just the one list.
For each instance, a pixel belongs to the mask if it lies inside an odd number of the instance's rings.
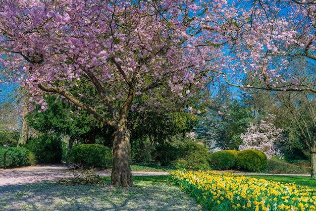
[{"label": "strip of sunlit lawn behind the daffodils at right edge", "polygon": [[309,176],[281,176],[281,175],[248,175],[256,179],[266,179],[281,183],[293,183],[301,186],[308,186],[309,188],[316,189],[316,180],[311,179]]}]

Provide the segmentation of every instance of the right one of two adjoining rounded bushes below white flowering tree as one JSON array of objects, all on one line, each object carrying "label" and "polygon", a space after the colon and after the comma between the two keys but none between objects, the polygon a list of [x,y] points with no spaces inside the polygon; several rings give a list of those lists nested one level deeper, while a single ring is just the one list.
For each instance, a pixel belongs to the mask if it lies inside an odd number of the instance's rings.
[{"label": "right one of two adjoining rounded bushes below white flowering tree", "polygon": [[237,154],[235,165],[238,170],[258,172],[267,167],[267,156],[255,149],[246,149]]}]

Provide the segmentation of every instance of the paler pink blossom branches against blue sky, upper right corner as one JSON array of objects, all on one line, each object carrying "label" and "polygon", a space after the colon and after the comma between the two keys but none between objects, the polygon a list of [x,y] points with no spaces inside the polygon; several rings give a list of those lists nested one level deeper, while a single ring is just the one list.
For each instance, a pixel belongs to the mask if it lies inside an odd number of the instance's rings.
[{"label": "paler pink blossom branches against blue sky, upper right corner", "polygon": [[[244,18],[229,17],[236,27],[228,33],[233,42],[230,57],[223,58],[234,62],[229,69],[216,71],[240,88],[316,92],[316,81],[298,84],[297,78],[284,72],[291,58],[315,64],[316,3],[250,0],[238,6]],[[242,83],[236,73],[247,74],[253,82]],[[316,73],[309,74],[315,77]]]}]

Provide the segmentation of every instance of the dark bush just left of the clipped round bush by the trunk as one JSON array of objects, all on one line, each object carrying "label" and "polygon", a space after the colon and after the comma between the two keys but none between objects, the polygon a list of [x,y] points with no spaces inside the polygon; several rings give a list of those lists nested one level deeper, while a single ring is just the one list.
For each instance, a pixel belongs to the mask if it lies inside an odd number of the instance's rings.
[{"label": "dark bush just left of the clipped round bush by the trunk", "polygon": [[59,137],[44,134],[29,140],[24,147],[35,154],[39,163],[58,163],[62,160],[62,141]]}]

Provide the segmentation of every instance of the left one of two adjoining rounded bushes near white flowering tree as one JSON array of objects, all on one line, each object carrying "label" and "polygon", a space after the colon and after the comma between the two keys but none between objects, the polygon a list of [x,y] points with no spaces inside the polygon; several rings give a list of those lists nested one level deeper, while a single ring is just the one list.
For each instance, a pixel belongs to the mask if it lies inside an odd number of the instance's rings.
[{"label": "left one of two adjoining rounded bushes near white flowering tree", "polygon": [[210,166],[216,170],[227,170],[235,167],[235,156],[238,151],[221,150],[210,154]]}]

